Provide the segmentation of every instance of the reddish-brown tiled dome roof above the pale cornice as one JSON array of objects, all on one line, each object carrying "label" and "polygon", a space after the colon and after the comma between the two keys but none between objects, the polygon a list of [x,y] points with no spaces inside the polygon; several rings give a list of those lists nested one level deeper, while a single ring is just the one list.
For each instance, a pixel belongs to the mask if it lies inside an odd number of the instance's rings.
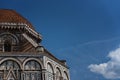
[{"label": "reddish-brown tiled dome roof above the pale cornice", "polygon": [[1,9],[0,23],[22,23],[27,24],[29,28],[34,29],[32,24],[14,10]]}]

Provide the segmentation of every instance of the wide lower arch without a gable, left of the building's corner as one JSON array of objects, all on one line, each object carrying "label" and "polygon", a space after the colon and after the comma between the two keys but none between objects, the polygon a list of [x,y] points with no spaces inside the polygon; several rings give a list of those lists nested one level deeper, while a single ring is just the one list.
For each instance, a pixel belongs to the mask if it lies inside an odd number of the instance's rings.
[{"label": "wide lower arch without a gable, left of the building's corner", "polygon": [[42,80],[41,65],[34,60],[28,61],[24,66],[24,79],[25,80]]}]

